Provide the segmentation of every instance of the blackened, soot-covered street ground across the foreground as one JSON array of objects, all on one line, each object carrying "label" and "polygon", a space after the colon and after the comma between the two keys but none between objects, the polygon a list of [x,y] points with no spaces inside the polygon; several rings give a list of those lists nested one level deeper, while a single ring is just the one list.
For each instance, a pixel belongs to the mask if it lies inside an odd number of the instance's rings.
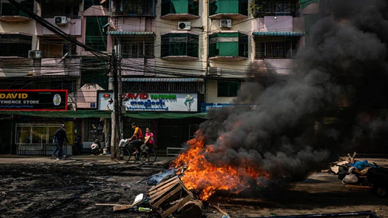
[{"label": "blackened, soot-covered street ground across the foreground", "polygon": [[[388,166],[385,159],[374,160]],[[163,162],[151,166],[121,166],[110,160],[65,160],[49,157],[0,158],[0,217],[159,217],[152,213],[113,213],[111,206],[130,204],[137,194],[147,194],[146,183],[136,183],[163,170]],[[218,195],[232,218],[375,211],[388,217],[388,199],[368,191],[347,190],[336,175],[312,173],[303,182],[266,198]],[[208,218],[222,214],[205,202]],[[175,216],[179,217],[179,216]]]}]

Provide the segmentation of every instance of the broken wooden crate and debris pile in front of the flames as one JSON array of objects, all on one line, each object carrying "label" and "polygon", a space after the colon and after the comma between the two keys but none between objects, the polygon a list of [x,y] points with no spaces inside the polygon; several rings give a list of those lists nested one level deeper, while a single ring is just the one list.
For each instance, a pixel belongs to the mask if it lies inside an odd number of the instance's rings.
[{"label": "broken wooden crate and debris pile in front of the flames", "polygon": [[[150,178],[140,180],[137,183],[147,180],[147,184],[152,186],[147,197],[139,194],[132,204],[96,204],[99,206],[113,206],[114,212],[146,212],[158,213],[161,218],[173,218],[179,215],[182,218],[202,217],[204,211],[203,202],[198,200],[187,187],[185,187],[180,177],[187,168],[168,169],[157,173]],[[209,204],[210,207],[222,213],[222,218],[231,218],[218,205]]]}]

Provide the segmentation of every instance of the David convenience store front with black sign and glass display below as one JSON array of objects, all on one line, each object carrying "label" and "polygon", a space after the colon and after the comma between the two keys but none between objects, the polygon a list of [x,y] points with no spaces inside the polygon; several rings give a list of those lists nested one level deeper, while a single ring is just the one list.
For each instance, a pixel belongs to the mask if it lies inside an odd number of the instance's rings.
[{"label": "David convenience store front with black sign and glass display below", "polygon": [[[0,141],[1,153],[52,154],[54,133],[64,123],[68,131],[69,145],[64,152],[71,154],[74,143],[74,119],[39,118],[23,116],[19,112],[56,113],[67,110],[68,90],[0,90],[0,112],[8,113],[3,122]],[[54,116],[53,116],[54,117]],[[5,151],[6,150],[6,151]]]}]

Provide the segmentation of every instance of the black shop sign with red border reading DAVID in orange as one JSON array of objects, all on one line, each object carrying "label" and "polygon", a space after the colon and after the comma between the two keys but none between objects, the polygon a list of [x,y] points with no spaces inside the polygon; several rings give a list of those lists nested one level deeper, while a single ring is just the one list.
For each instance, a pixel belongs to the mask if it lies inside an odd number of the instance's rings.
[{"label": "black shop sign with red border reading DAVID in orange", "polygon": [[0,111],[66,111],[68,90],[0,90]]}]

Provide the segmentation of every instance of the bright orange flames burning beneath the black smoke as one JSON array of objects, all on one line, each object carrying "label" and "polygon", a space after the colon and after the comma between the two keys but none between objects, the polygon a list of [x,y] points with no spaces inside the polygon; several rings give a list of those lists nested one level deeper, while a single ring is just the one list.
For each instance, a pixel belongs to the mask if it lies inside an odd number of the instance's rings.
[{"label": "bright orange flames burning beneath the black smoke", "polygon": [[190,149],[180,154],[173,163],[175,166],[187,166],[181,179],[188,189],[201,191],[199,199],[206,201],[217,190],[230,190],[237,194],[250,187],[259,176],[269,176],[258,166],[254,167],[249,159],[234,166],[210,163],[205,155],[211,155],[215,149],[213,145],[205,146],[204,138],[198,135],[187,142]]}]

